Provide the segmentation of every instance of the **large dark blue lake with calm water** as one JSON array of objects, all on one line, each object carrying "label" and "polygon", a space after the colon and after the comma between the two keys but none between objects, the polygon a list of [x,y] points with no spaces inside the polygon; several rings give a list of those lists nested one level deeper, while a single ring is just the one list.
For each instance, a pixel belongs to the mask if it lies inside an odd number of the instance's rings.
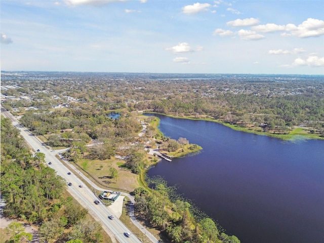
[{"label": "large dark blue lake with calm water", "polygon": [[203,120],[157,115],[159,129],[203,147],[148,172],[242,243],[324,242],[324,141],[281,141]]}]

